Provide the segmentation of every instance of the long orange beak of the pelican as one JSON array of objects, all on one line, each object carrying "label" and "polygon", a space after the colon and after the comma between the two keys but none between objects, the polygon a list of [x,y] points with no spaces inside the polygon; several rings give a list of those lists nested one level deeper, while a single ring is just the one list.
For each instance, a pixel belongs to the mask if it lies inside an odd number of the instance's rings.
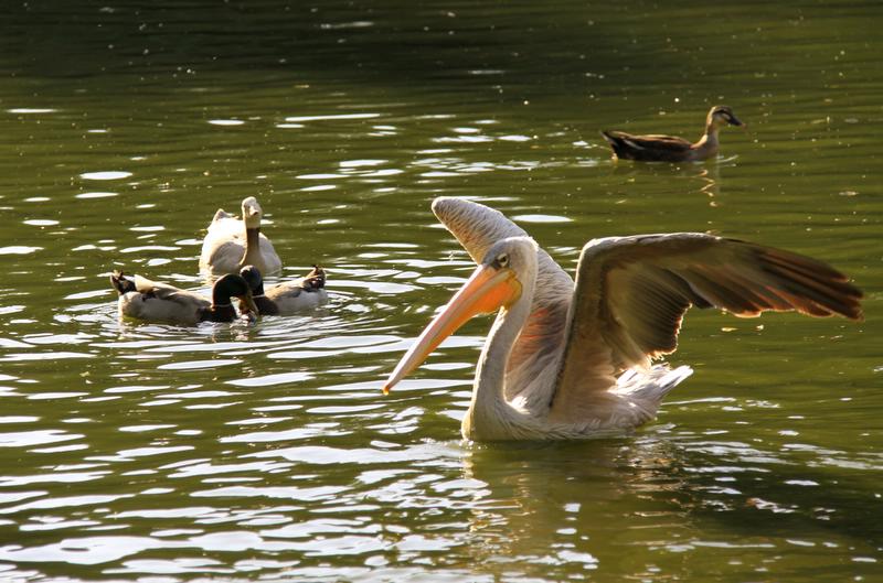
[{"label": "long orange beak of the pelican", "polygon": [[421,366],[445,338],[457,332],[474,315],[496,312],[501,306],[511,305],[519,295],[521,283],[514,271],[509,268],[479,266],[398,361],[383,386],[383,393],[389,393],[393,386]]}]

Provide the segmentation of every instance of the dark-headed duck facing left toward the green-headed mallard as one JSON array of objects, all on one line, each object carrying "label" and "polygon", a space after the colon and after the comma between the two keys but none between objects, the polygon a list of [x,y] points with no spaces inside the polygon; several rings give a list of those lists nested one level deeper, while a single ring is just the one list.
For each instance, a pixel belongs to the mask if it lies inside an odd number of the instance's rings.
[{"label": "dark-headed duck facing left toward the green-headed mallard", "polygon": [[[328,301],[325,291],[325,270],[312,266],[312,271],[296,281],[286,281],[264,291],[264,278],[254,266],[245,266],[240,274],[252,288],[252,298],[263,315],[291,315],[310,310]],[[243,311],[245,309],[240,306]]]}]

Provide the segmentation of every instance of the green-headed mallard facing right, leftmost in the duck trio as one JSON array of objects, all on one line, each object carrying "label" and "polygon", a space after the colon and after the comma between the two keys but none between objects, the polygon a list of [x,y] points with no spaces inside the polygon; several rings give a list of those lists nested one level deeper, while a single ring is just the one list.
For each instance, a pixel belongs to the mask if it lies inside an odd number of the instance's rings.
[{"label": "green-headed mallard facing right, leftmost in the duck trio", "polygon": [[119,293],[119,315],[146,322],[193,326],[200,322],[233,322],[236,311],[231,298],[238,298],[255,314],[252,289],[240,274],[226,274],[214,282],[212,299],[167,283],[150,281],[123,271],[110,274],[110,284]]}]

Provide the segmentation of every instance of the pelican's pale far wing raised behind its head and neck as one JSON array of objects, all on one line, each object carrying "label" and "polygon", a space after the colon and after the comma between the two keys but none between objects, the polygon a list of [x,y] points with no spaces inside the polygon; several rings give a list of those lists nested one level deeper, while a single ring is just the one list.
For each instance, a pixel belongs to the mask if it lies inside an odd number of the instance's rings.
[{"label": "pelican's pale far wing raised behind its head and neck", "polygon": [[[529,237],[524,229],[499,210],[465,198],[436,198],[433,213],[476,263],[496,241],[507,237]],[[536,375],[558,354],[573,296],[573,280],[549,253],[540,249],[536,259],[536,293],[531,315],[512,347],[507,368],[506,393],[509,399],[535,380]],[[546,386],[551,388],[551,385]],[[549,406],[547,396],[532,396],[531,400],[545,400],[543,406]],[[532,404],[525,402],[524,407]]]}]

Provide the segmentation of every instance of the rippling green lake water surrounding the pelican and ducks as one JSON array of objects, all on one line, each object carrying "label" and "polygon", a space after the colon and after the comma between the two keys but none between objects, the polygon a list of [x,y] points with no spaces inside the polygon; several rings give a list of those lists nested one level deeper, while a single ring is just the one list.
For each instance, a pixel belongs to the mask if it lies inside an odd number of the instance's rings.
[{"label": "rippling green lake water surrounding the pelican and ducks", "polygon": [[[883,580],[877,2],[74,4],[0,21],[0,580]],[[748,129],[704,164],[598,134],[717,102]],[[206,290],[249,195],[326,307],[117,319],[114,269]],[[610,235],[786,247],[866,320],[694,311],[636,434],[465,443],[489,317],[380,390],[471,270],[439,195],[567,270]]]}]

